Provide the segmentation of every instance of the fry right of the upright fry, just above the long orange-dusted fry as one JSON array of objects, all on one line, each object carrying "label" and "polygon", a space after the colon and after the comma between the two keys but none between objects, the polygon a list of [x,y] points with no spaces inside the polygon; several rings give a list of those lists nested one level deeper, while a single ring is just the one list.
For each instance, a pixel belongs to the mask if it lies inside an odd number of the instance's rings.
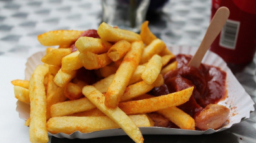
[{"label": "fry right of the upright fry, just above the long orange-dusted fry", "polygon": [[157,77],[157,80],[153,84],[146,84],[145,81],[141,81],[128,86],[124,91],[124,95],[122,95],[121,97],[121,101],[133,99],[147,93],[154,88],[155,84],[158,85],[158,82],[161,82],[163,84],[162,75],[159,75],[159,77]]}]

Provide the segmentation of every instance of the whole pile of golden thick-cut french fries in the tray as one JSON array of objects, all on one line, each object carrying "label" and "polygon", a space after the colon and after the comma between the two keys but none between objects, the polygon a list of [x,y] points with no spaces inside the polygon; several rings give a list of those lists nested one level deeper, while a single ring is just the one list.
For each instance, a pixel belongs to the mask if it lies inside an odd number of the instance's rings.
[{"label": "whole pile of golden thick-cut french fries in the tray", "polygon": [[[143,142],[138,127],[154,126],[147,115],[151,112],[181,129],[195,129],[194,119],[176,108],[189,100],[193,88],[159,97],[146,94],[161,86],[163,75],[177,67],[177,62],[169,63],[175,56],[150,32],[148,21],[140,34],[106,23],[97,30],[100,39],[79,37],[81,33],[57,30],[39,35],[44,46],[60,48],[47,48],[41,59],[44,64],[36,67],[30,81],[12,81],[16,99],[30,104],[25,125],[31,142],[48,142],[47,132],[113,128],[122,128],[134,142]],[[68,48],[73,43],[76,52]],[[81,80],[78,70],[84,68],[100,80],[93,84]]]}]

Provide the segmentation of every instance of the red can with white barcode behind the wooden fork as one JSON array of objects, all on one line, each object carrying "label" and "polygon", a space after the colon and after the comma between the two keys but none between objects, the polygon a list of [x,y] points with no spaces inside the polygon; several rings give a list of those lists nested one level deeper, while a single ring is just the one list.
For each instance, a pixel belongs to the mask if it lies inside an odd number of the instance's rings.
[{"label": "red can with white barcode behind the wooden fork", "polygon": [[229,63],[251,62],[256,50],[256,1],[213,0],[212,2],[211,17],[221,6],[229,8],[230,15],[211,45],[211,51]]}]

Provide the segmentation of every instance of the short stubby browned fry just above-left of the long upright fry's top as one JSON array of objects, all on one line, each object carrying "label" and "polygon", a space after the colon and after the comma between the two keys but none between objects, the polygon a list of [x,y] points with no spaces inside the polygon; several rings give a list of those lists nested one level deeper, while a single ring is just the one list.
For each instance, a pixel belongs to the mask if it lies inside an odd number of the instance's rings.
[{"label": "short stubby browned fry just above-left of the long upright fry's top", "polygon": [[108,57],[110,57],[110,59],[114,62],[118,61],[119,59],[124,57],[124,55],[130,50],[130,48],[131,44],[127,41],[118,41],[113,46],[111,46],[110,50],[108,50]]}]

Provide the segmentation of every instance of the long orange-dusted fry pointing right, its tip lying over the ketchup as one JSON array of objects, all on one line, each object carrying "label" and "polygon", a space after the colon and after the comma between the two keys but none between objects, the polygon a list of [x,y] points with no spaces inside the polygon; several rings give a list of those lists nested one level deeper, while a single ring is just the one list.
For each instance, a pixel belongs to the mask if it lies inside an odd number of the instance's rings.
[{"label": "long orange-dusted fry pointing right, its tip lying over the ketchup", "polygon": [[151,99],[121,102],[119,103],[119,108],[127,115],[149,113],[187,102],[191,97],[192,91],[193,87]]}]

